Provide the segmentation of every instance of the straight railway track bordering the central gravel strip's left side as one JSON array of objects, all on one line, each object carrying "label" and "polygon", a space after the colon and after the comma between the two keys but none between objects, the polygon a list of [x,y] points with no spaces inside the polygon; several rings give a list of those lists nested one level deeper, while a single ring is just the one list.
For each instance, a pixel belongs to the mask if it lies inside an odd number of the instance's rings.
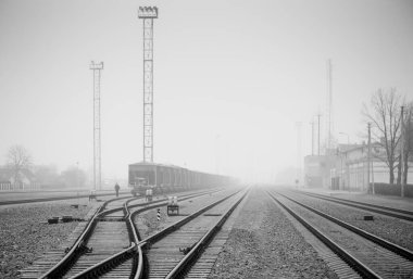
[{"label": "straight railway track bordering the central gravel strip's left side", "polygon": [[143,239],[147,265],[138,278],[206,278],[215,258],[197,259],[247,193],[227,195]]}]

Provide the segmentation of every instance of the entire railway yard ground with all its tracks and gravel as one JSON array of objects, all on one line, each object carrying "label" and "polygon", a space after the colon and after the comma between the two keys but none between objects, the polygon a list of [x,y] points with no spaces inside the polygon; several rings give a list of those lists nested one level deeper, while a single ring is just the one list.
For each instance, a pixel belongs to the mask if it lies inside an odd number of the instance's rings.
[{"label": "entire railway yard ground with all its tracks and gravel", "polygon": [[83,199],[2,205],[0,277],[413,278],[409,199],[272,187]]}]

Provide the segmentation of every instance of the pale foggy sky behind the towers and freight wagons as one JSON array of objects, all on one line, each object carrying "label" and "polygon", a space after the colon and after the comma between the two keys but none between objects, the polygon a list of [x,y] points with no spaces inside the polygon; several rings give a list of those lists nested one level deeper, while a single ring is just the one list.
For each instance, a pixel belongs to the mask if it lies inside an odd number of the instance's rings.
[{"label": "pale foggy sky behind the towers and freight wagons", "polygon": [[410,0],[0,0],[0,165],[22,144],[35,165],[92,167],[91,60],[104,62],[103,176],[142,161],[139,5],[159,8],[157,163],[275,181],[297,166],[297,122],[311,153],[328,59],[339,142],[365,140],[361,110],[378,88],[413,96]]}]

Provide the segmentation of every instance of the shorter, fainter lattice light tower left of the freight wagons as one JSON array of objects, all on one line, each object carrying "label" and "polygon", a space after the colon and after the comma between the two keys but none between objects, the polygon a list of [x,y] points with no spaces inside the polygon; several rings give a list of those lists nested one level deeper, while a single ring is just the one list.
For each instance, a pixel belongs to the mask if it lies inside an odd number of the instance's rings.
[{"label": "shorter, fainter lattice light tower left of the freight wagons", "polygon": [[95,190],[101,190],[101,148],[100,148],[100,71],[103,69],[103,62],[90,63],[93,71],[93,186]]}]

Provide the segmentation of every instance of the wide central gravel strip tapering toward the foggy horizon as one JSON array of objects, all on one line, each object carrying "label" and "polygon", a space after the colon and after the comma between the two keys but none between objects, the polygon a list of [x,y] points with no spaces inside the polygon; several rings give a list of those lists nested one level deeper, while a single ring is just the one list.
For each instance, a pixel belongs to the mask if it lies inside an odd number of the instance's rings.
[{"label": "wide central gravel strip tapering toward the foggy horizon", "polygon": [[268,196],[253,189],[210,275],[215,278],[337,278]]}]

